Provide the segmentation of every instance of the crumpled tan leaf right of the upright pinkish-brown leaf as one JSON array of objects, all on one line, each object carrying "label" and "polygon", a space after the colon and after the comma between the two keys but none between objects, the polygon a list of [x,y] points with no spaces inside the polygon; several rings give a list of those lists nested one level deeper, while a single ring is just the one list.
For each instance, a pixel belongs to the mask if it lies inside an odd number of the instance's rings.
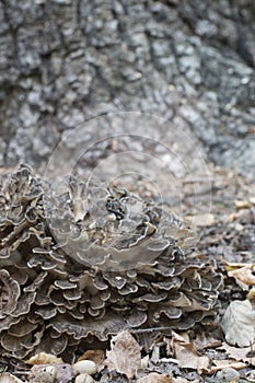
[{"label": "crumpled tan leaf right of the upright pinkish-brown leaf", "polygon": [[174,358],[178,360],[181,368],[196,369],[200,373],[209,365],[208,357],[199,356],[193,344],[174,332],[172,332],[169,349],[173,350]]}]

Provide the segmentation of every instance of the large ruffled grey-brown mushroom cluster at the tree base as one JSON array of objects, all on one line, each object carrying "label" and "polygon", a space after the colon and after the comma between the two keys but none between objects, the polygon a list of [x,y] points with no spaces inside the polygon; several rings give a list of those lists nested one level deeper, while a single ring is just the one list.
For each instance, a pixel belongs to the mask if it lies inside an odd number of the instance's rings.
[{"label": "large ruffled grey-brown mushroom cluster at the tree base", "polygon": [[74,177],[49,192],[25,166],[0,190],[1,355],[70,360],[124,328],[211,321],[222,278],[170,211]]}]

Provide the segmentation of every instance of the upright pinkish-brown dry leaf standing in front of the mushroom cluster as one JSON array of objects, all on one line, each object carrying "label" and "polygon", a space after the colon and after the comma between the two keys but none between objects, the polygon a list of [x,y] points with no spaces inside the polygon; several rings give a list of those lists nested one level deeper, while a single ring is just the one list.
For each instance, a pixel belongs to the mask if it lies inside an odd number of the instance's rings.
[{"label": "upright pinkish-brown dry leaf standing in front of the mushroom cluster", "polygon": [[116,370],[132,379],[141,365],[140,347],[128,330],[123,330],[111,340],[111,350],[106,351],[105,364],[109,371]]}]

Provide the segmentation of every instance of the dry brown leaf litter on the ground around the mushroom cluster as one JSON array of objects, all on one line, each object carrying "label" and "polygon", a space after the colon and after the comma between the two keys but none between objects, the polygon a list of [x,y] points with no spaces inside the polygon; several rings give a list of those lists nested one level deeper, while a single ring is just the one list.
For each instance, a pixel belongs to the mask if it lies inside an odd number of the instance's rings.
[{"label": "dry brown leaf litter on the ground around the mushroom cluster", "polygon": [[[92,376],[94,382],[223,382],[222,376],[227,376],[231,369],[239,371],[232,378],[232,383],[255,382],[254,185],[235,174],[231,178],[223,170],[215,169],[213,172],[210,216],[197,218],[197,225],[202,230],[198,246],[204,257],[213,257],[217,260],[219,272],[224,275],[224,289],[218,307],[222,333],[170,332],[163,346],[158,347],[158,361],[152,361],[153,349],[144,355],[132,334],[120,332],[112,338],[106,359],[105,350],[101,349],[86,350],[83,356],[78,356],[79,360],[93,360],[96,363],[98,373]],[[205,195],[201,204],[204,200]],[[193,216],[189,211],[188,193],[184,198],[183,213]],[[160,341],[162,344],[162,339]],[[154,348],[158,344],[154,343]],[[0,383],[32,383],[33,374],[28,374],[31,364],[35,365],[33,368],[59,364],[60,368],[62,360],[55,358],[40,352],[30,358],[27,363],[16,364],[1,357]],[[67,365],[70,373],[72,365]],[[221,371],[222,374],[219,375]],[[70,378],[67,371],[65,373],[70,382],[74,382],[74,378]],[[54,383],[63,381],[63,376],[56,375]]]}]

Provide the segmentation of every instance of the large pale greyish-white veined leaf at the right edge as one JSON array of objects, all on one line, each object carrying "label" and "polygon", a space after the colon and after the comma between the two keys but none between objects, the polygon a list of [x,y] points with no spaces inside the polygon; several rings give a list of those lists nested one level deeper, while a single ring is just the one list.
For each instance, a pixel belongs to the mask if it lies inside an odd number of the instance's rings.
[{"label": "large pale greyish-white veined leaf at the right edge", "polygon": [[248,300],[233,301],[227,309],[221,327],[228,344],[247,347],[255,337],[255,311]]}]

